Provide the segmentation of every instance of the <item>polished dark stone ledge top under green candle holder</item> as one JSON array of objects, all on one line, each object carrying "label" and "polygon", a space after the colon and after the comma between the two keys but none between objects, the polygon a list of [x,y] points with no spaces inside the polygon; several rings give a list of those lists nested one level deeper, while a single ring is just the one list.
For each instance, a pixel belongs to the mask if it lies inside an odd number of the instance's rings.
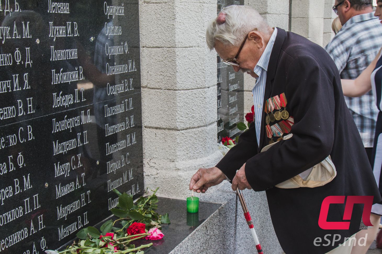
[{"label": "polished dark stone ledge top under green candle holder", "polygon": [[153,245],[145,250],[145,254],[168,254],[220,206],[222,205],[199,202],[199,212],[190,214],[186,212],[186,200],[159,197],[157,212],[159,214],[168,213],[171,221],[170,224],[162,225],[163,239],[136,240],[134,244],[138,246],[152,242]]}]

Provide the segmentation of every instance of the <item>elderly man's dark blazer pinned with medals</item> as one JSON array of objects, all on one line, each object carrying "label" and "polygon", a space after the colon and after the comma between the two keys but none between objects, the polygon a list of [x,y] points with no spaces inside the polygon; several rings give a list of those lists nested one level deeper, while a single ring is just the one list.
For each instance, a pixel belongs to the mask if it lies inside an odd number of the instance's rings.
[{"label": "elderly man's dark blazer pinned with medals", "polygon": [[[381,200],[361,137],[343,98],[340,75],[332,58],[319,45],[292,32],[277,28],[270,55],[265,101],[285,93],[286,109],[294,117],[293,137],[269,150],[262,116],[260,147],[254,125],[240,135],[216,165],[233,179],[244,163],[245,174],[255,191],[267,194],[277,238],[286,254],[324,254],[359,231],[363,205],[355,204],[349,230],[323,230],[318,225],[322,201],[327,196],[374,196]],[[330,154],[337,169],[332,182],[316,188],[273,187],[323,161]],[[273,188],[272,188],[273,187]],[[345,204],[332,204],[327,221],[343,221]],[[256,224],[256,218],[254,219]],[[378,227],[379,225],[376,225]],[[315,246],[317,237],[341,235],[332,246]],[[260,239],[261,242],[261,239]]]}]

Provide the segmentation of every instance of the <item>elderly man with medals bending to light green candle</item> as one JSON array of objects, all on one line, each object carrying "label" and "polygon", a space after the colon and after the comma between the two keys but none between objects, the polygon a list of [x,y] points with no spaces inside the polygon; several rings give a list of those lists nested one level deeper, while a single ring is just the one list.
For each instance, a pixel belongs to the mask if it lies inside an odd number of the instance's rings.
[{"label": "elderly man with medals bending to light green candle", "polygon": [[[333,60],[308,39],[272,29],[248,6],[224,8],[207,27],[206,40],[235,71],[256,79],[255,121],[215,167],[193,175],[190,190],[204,193],[228,177],[233,190],[265,191],[286,254],[350,253],[354,239],[346,239],[359,231],[363,206],[354,205],[348,230],[329,230],[318,223],[322,201],[373,196],[376,203],[381,196]],[[283,140],[287,133],[293,137]],[[331,182],[316,188],[275,187],[296,175],[306,179],[306,170],[329,155],[337,169]],[[332,204],[326,221],[342,222],[344,209],[345,204]]]}]

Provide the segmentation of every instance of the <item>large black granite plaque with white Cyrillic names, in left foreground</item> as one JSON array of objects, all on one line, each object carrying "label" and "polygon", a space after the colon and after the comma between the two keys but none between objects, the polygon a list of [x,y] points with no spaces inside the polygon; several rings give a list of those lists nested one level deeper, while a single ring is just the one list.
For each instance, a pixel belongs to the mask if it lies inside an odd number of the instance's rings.
[{"label": "large black granite plaque with white Cyrillic names, in left foreground", "polygon": [[143,193],[138,0],[0,0],[0,252],[42,254]]}]

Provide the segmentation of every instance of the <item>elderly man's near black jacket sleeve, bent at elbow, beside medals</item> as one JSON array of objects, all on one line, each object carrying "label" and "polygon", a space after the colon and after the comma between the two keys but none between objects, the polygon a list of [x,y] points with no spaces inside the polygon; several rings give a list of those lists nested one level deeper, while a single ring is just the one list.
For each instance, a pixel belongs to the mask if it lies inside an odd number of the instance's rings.
[{"label": "elderly man's near black jacket sleeve, bent at elbow, beside medals", "polygon": [[332,151],[335,107],[332,80],[316,59],[298,56],[288,67],[285,84],[289,113],[295,120],[293,137],[248,159],[245,173],[255,191],[304,172]]}]

